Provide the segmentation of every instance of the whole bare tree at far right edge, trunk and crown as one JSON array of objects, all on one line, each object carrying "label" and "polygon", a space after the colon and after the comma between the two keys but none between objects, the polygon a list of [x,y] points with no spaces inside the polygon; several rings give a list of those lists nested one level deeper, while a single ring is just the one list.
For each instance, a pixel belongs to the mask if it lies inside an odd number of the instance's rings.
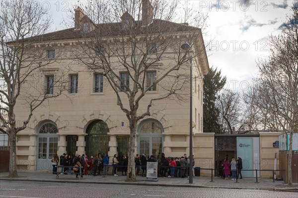
[{"label": "whole bare tree at far right edge, trunk and crown", "polygon": [[292,6],[279,36],[270,37],[270,55],[257,63],[260,75],[255,89],[258,102],[278,122],[284,132],[290,133],[288,178],[292,185],[292,141],[298,132],[298,4]]}]

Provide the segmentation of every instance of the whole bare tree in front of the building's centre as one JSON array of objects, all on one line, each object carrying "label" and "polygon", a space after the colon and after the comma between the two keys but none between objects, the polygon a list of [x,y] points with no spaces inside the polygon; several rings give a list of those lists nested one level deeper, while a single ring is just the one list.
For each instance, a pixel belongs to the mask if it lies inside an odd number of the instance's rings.
[{"label": "whole bare tree in front of the building's centre", "polygon": [[[90,29],[86,24],[86,31],[81,33],[84,39],[79,39],[81,49],[75,55],[94,72],[103,72],[117,96],[117,105],[129,121],[129,181],[136,179],[134,154],[138,122],[152,115],[150,108],[154,102],[166,98],[181,101],[186,95],[190,78],[189,65],[185,63],[189,63],[190,56],[180,46],[184,42],[190,44],[189,53],[195,66],[207,61],[201,29],[188,26],[181,18],[180,24],[170,22],[177,16],[177,6],[176,0],[152,0],[152,3],[114,0],[92,1],[85,8]],[[193,16],[194,24],[205,25],[206,16],[198,12]],[[157,85],[159,94],[146,97]],[[141,104],[146,109],[140,110]]]}]

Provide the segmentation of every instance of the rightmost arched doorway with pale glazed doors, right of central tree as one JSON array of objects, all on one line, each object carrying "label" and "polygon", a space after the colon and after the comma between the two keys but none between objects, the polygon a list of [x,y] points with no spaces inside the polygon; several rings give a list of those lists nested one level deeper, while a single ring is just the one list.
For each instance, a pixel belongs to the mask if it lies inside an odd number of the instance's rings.
[{"label": "rightmost arched doorway with pale glazed doors, right of central tree", "polygon": [[163,127],[157,120],[147,119],[138,127],[138,153],[158,157],[163,152]]}]

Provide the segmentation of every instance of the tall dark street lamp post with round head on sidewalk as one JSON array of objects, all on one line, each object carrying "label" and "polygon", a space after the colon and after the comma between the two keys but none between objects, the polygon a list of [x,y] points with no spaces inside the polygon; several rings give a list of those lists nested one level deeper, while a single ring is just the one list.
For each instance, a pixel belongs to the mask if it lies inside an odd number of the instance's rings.
[{"label": "tall dark street lamp post with round head on sidewalk", "polygon": [[[190,45],[185,42],[181,45],[181,49],[185,50],[188,52],[188,57],[189,57],[189,49]],[[190,59],[190,113],[189,113],[189,184],[193,183],[193,145],[192,145],[192,56],[189,57]]]}]

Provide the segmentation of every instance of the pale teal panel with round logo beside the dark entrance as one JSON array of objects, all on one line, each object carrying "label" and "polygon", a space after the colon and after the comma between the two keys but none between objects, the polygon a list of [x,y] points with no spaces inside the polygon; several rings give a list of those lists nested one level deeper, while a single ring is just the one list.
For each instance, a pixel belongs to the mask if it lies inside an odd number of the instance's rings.
[{"label": "pale teal panel with round logo beside the dark entrance", "polygon": [[242,176],[253,177],[253,138],[252,137],[237,137],[237,156],[242,159]]}]

